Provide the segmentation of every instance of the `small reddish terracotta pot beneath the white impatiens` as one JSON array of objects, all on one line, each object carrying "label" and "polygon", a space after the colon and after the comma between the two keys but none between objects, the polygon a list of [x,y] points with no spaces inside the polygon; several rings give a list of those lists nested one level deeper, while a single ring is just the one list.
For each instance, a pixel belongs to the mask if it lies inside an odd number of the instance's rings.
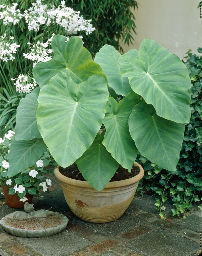
[{"label": "small reddish terracotta pot beneath the white impatiens", "polygon": [[[2,186],[3,189],[3,193],[5,196],[5,200],[6,200],[6,204],[12,208],[23,208],[25,202],[20,201],[20,197],[18,196],[17,193],[15,193],[14,195],[9,195],[9,187],[8,186]],[[25,197],[28,199],[26,202],[28,202],[29,204],[32,203],[32,199],[33,199],[34,195],[30,195],[29,193],[27,193],[25,195]]]}]

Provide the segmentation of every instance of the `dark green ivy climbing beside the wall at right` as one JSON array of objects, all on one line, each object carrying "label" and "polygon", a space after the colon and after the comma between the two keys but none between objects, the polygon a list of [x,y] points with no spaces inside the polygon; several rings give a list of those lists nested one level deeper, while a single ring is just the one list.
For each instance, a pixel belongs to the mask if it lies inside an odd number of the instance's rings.
[{"label": "dark green ivy climbing beside the wall at right", "polygon": [[[202,48],[198,48],[202,53]],[[160,216],[163,217],[165,210],[163,203],[166,200],[172,200],[174,209],[172,214],[183,215],[187,210],[191,210],[193,203],[201,201],[202,190],[202,57],[192,54],[191,50],[187,52],[184,58],[189,76],[192,81],[191,109],[192,115],[189,123],[185,126],[184,139],[180,151],[180,159],[177,164],[176,173],[168,173],[159,168],[143,156],[139,155],[139,161],[142,162],[146,171],[141,186],[138,189],[155,191],[155,205],[160,210]],[[201,204],[199,205],[201,209]]]}]

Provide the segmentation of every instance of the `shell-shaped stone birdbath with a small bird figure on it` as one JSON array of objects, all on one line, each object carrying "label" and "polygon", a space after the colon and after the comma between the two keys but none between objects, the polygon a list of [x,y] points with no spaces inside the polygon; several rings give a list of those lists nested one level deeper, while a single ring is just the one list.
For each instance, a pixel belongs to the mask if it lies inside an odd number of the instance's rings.
[{"label": "shell-shaped stone birdbath with a small bird figure on it", "polygon": [[3,229],[14,236],[43,237],[61,232],[68,223],[68,218],[48,210],[34,210],[33,204],[25,203],[25,211],[7,214],[0,221]]}]

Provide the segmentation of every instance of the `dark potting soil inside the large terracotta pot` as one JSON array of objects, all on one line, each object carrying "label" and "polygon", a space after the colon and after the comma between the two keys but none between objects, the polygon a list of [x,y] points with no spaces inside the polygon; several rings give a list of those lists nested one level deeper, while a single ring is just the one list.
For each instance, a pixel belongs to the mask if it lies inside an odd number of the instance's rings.
[{"label": "dark potting soil inside the large terracotta pot", "polygon": [[[71,179],[86,181],[83,178],[80,171],[78,170],[77,165],[75,163],[73,163],[67,168],[59,167],[59,171],[64,176],[69,177]],[[110,181],[126,180],[136,176],[139,172],[140,168],[138,166],[133,166],[131,172],[129,173],[127,169],[119,165],[119,168],[116,170],[114,176],[111,178]]]}]

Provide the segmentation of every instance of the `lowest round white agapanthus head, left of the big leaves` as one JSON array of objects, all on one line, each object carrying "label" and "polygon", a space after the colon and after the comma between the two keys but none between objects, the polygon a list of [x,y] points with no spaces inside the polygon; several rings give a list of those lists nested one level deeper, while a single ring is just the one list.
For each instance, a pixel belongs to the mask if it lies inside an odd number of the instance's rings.
[{"label": "lowest round white agapanthus head, left of the big leaves", "polygon": [[16,80],[14,85],[16,92],[19,93],[30,93],[37,85],[31,74],[19,74],[18,78],[11,78],[11,80]]}]

